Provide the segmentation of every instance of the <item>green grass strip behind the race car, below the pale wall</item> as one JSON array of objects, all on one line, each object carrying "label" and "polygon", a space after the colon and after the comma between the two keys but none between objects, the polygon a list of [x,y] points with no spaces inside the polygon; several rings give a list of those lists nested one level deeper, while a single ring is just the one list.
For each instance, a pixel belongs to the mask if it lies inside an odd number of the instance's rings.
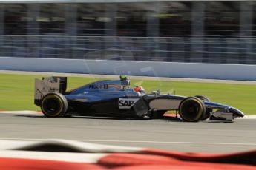
[{"label": "green grass strip behind the race car, below the pale wall", "polygon": [[[35,78],[43,75],[0,74],[0,110],[39,110],[33,105]],[[68,89],[82,86],[98,78],[68,78]],[[225,103],[241,109],[246,115],[255,115],[256,86],[245,84],[210,84],[177,81],[131,80],[131,85],[142,85],[147,92],[160,89],[177,95],[206,95],[211,101]]]}]

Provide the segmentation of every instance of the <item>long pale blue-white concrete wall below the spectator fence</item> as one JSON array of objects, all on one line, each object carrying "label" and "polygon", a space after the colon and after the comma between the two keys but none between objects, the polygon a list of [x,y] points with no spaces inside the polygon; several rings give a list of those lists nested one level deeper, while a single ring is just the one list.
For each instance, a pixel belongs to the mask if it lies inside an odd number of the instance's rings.
[{"label": "long pale blue-white concrete wall below the spectator fence", "polygon": [[256,81],[256,65],[0,57],[1,70]]}]

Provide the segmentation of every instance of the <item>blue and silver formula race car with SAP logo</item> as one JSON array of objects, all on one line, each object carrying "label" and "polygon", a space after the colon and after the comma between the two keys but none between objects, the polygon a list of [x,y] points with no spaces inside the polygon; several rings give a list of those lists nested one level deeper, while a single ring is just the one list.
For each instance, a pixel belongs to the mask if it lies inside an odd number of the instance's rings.
[{"label": "blue and silver formula race car with SAP logo", "polygon": [[69,92],[66,77],[36,79],[34,103],[46,117],[70,115],[117,118],[165,119],[165,112],[175,111],[176,118],[188,122],[217,120],[232,122],[244,114],[232,106],[214,103],[206,96],[184,97],[145,94],[140,86],[130,87],[126,76],[119,80],[102,80]]}]

